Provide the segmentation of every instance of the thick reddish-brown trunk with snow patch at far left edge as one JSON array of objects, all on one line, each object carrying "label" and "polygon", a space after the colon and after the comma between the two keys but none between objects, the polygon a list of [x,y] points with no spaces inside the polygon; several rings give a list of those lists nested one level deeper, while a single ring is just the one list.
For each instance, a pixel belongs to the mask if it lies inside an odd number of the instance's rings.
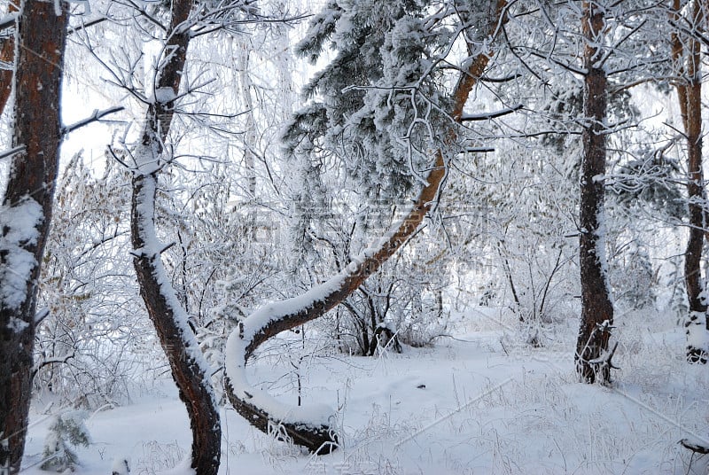
[{"label": "thick reddish-brown trunk with snow patch at far left edge", "polygon": [[23,1],[10,176],[0,210],[0,472],[18,473],[31,395],[37,279],[51,222],[66,4]]}]

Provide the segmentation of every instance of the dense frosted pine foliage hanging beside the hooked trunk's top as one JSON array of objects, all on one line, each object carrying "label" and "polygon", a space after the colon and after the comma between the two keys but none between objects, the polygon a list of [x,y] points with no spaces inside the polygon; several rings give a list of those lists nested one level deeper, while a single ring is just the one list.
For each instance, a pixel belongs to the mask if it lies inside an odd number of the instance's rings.
[{"label": "dense frosted pine foliage hanging beside the hooked trunk's top", "polygon": [[291,153],[336,157],[377,199],[408,191],[432,161],[446,109],[437,57],[450,34],[427,27],[423,2],[330,2],[296,47],[329,64],[303,91],[308,105],[287,126]]}]

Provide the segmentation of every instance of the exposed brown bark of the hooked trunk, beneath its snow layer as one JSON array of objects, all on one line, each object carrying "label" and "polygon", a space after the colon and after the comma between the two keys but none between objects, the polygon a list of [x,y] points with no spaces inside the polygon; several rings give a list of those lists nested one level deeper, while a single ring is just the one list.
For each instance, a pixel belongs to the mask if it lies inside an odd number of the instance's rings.
[{"label": "exposed brown bark of the hooked trunk, beneath its snow layer", "polygon": [[[495,12],[488,24],[488,36],[495,36],[497,28],[503,21],[506,6],[506,0],[495,2]],[[492,51],[480,52],[471,58],[467,70],[461,74],[452,93],[453,105],[450,114],[456,122],[461,121],[465,102],[491,57]],[[456,142],[456,128],[451,127],[446,135],[448,136],[448,145],[452,146]],[[263,310],[261,310],[261,313],[257,312],[247,317],[241,323],[239,330],[230,335],[227,345],[228,348],[235,349],[235,354],[228,354],[228,358],[240,361],[227,362],[225,390],[234,409],[237,409],[241,416],[262,432],[267,432],[269,427],[278,427],[294,444],[304,446],[318,455],[330,453],[337,447],[337,436],[328,425],[313,425],[308,424],[308,421],[284,424],[283,421],[269,414],[267,410],[258,407],[254,401],[250,401],[252,398],[247,392],[242,393],[232,385],[231,380],[237,379],[241,375],[230,374],[230,366],[235,364],[239,370],[243,370],[245,363],[263,342],[281,331],[291,330],[303,323],[308,323],[335,308],[347,296],[355,292],[367,277],[377,272],[393,253],[396,253],[401,245],[416,232],[421,222],[424,221],[425,215],[431,209],[432,203],[438,197],[441,183],[443,183],[447,172],[444,151],[436,152],[434,158],[433,167],[426,176],[427,184],[419,192],[409,214],[401,221],[398,228],[393,230],[386,241],[378,245],[375,250],[365,253],[360,259],[351,262],[345,270],[322,286],[307,292],[303,297],[307,298],[308,294],[312,294],[313,298],[308,301],[306,306],[295,308],[286,315],[273,315],[274,317],[269,319],[267,323],[261,322],[263,315]]]}]

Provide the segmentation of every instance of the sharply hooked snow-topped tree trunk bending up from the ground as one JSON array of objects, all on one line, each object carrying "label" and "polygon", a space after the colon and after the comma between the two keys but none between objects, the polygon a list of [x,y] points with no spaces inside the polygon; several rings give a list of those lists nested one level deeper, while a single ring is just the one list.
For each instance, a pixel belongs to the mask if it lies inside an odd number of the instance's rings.
[{"label": "sharply hooked snow-topped tree trunk bending up from the ground", "polygon": [[[503,21],[506,0],[495,2],[495,11],[488,23],[487,35],[494,37]],[[463,108],[472,88],[487,67],[491,51],[482,51],[471,58],[452,93],[451,116],[460,121]],[[451,127],[448,145],[456,141],[456,128]],[[446,175],[444,152],[438,151],[426,185],[401,223],[378,245],[355,258],[346,269],[323,284],[317,285],[300,297],[270,304],[249,315],[239,323],[227,342],[225,389],[234,409],[262,432],[276,432],[280,439],[292,440],[321,455],[337,447],[337,436],[331,429],[330,414],[325,411],[289,407],[275,401],[268,394],[253,388],[245,378],[245,364],[263,342],[281,331],[290,330],[324,315],[356,291],[364,280],[411,237],[423,222],[438,197]]]}]

